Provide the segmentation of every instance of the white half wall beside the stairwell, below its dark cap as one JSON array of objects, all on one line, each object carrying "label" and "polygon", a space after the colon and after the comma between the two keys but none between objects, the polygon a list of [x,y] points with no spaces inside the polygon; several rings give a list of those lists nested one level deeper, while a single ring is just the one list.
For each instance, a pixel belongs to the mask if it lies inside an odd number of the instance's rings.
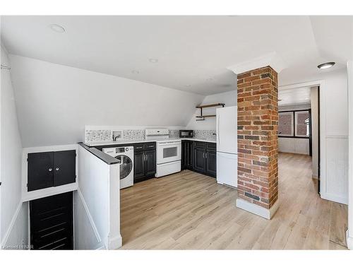
[{"label": "white half wall beside the stairwell, below its dark cap", "polygon": [[119,165],[107,165],[78,147],[75,249],[121,247]]}]

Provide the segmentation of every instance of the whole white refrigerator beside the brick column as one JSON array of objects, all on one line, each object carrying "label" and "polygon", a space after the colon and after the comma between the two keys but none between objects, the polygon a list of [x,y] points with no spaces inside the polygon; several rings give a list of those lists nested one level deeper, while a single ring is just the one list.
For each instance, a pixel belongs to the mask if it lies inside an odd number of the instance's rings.
[{"label": "whole white refrigerator beside the brick column", "polygon": [[237,106],[216,109],[217,183],[236,188],[238,179]]}]

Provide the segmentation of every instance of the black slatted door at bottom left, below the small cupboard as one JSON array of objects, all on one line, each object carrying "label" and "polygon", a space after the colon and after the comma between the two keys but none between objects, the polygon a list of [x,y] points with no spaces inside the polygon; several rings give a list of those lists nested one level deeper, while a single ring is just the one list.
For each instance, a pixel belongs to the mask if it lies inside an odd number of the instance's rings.
[{"label": "black slatted door at bottom left, below the small cupboard", "polygon": [[73,193],[30,201],[33,249],[73,249]]}]

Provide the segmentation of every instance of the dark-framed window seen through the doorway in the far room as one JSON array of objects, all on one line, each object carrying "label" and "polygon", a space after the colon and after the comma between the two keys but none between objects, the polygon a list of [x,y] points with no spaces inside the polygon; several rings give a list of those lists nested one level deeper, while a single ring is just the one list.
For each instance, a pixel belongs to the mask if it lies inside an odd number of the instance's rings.
[{"label": "dark-framed window seen through the doorway in the far room", "polygon": [[310,136],[309,110],[278,113],[278,136],[307,138]]}]

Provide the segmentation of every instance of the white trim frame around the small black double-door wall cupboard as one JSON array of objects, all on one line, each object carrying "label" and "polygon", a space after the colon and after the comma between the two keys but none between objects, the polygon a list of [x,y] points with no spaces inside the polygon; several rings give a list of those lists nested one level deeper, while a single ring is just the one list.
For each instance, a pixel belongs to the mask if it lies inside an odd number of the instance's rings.
[{"label": "white trim frame around the small black double-door wall cupboard", "polygon": [[[58,187],[49,187],[46,189],[37,189],[32,192],[28,192],[27,189],[27,177],[28,177],[28,162],[27,157],[28,153],[40,153],[40,152],[52,152],[52,151],[66,151],[66,150],[76,150],[76,182],[61,185]],[[55,194],[61,194],[64,192],[72,192],[78,189],[78,145],[77,144],[68,144],[63,146],[38,146],[23,148],[22,152],[22,201],[30,201],[33,199],[40,199],[47,196],[52,196]]]}]

